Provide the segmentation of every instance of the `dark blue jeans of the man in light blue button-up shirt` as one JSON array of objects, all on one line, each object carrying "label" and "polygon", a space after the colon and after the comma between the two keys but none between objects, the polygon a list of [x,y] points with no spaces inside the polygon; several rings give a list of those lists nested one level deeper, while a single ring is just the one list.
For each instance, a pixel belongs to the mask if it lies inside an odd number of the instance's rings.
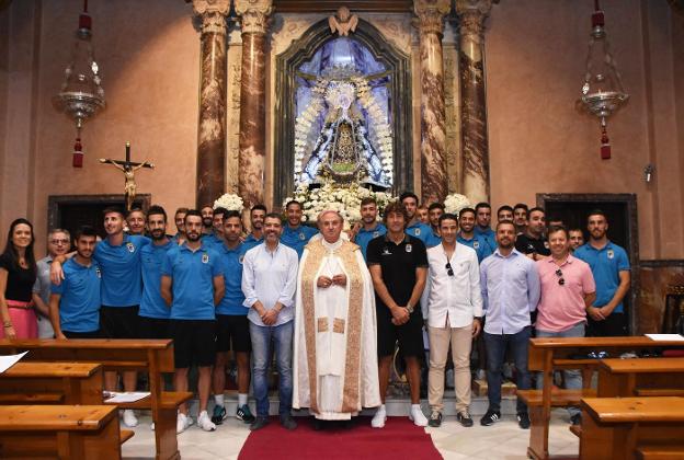
[{"label": "dark blue jeans of the man in light blue button-up shirt", "polygon": [[[489,334],[485,333],[487,345],[487,398],[490,411],[501,411],[501,373],[505,360],[506,349],[513,353],[513,363],[517,379],[515,384],[518,390],[529,390],[531,379],[527,370],[527,346],[532,335],[532,327],[526,326],[515,334]],[[518,398],[516,402],[517,413],[526,413],[527,405]]]}]

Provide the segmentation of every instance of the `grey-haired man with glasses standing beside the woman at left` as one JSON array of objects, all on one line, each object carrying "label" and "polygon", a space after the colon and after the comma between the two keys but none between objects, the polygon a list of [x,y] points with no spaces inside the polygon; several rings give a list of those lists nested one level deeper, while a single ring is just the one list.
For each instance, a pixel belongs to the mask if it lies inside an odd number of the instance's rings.
[{"label": "grey-haired man with glasses standing beside the woman at left", "polygon": [[36,263],[36,281],[33,285],[33,302],[38,320],[38,338],[54,338],[55,330],[49,318],[50,279],[49,269],[53,258],[65,255],[71,248],[69,231],[54,229],[47,234],[47,256]]}]

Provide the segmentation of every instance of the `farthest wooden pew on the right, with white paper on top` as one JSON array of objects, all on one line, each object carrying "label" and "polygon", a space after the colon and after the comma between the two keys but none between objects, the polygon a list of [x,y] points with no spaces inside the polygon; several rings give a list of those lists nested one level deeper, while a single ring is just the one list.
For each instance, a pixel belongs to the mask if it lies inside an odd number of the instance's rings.
[{"label": "farthest wooden pew on the right, with white paper on top", "polygon": [[[528,350],[529,371],[540,371],[544,376],[544,388],[542,390],[527,390],[523,392],[523,398],[538,405],[529,407],[529,447],[527,456],[533,459],[548,459],[548,434],[549,421],[551,418],[552,395],[551,387],[555,369],[580,369],[583,375],[583,387],[581,396],[591,396],[589,389],[591,372],[600,366],[598,359],[572,359],[573,356],[586,356],[592,350],[607,352],[611,357],[628,350],[660,349],[663,347],[681,347],[682,342],[652,341],[647,336],[630,337],[548,337],[531,338]],[[562,391],[566,390],[561,390]],[[520,392],[518,392],[520,393]],[[569,398],[567,398],[569,400]],[[575,398],[569,403],[579,402]]]}]

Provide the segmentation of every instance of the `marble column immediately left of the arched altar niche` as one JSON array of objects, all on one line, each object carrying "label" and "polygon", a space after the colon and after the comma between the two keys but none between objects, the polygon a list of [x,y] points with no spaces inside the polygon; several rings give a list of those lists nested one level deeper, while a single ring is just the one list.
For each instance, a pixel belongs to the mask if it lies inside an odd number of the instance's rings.
[{"label": "marble column immediately left of the arched altar niche", "polygon": [[266,156],[266,27],[272,0],[235,0],[242,30],[238,192],[247,209],[264,203]]}]

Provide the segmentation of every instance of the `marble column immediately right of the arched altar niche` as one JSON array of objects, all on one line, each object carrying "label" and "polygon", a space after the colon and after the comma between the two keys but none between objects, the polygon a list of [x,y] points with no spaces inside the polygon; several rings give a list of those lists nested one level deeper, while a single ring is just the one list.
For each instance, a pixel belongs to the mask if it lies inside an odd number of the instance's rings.
[{"label": "marble column immediately right of the arched altar niche", "polygon": [[449,0],[414,0],[421,59],[421,197],[442,202],[448,193],[442,34]]}]

